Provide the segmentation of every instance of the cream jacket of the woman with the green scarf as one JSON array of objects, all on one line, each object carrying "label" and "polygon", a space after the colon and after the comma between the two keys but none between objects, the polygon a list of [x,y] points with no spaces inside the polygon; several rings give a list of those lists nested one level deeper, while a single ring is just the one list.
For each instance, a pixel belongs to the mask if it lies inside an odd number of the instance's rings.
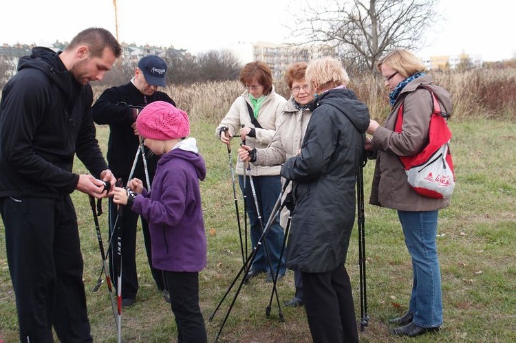
[{"label": "cream jacket of the woman with the green scarf", "polygon": [[[233,137],[235,137],[235,139],[238,140],[241,124],[255,127],[251,123],[246,104],[246,102],[249,102],[248,98],[248,91],[244,91],[244,93],[242,93],[242,95],[239,96],[235,102],[233,102],[228,113],[217,126],[217,129],[215,129],[215,135],[217,135],[217,137],[219,137],[219,130],[223,126],[228,126],[230,133],[233,135]],[[247,146],[250,146],[251,148],[266,148],[269,145],[281,122],[280,114],[283,111],[283,107],[285,106],[286,102],[287,100],[283,98],[283,96],[275,93],[273,88],[264,102],[262,102],[260,111],[257,116],[257,120],[262,129],[255,128],[256,137],[246,137]],[[259,166],[257,164],[250,164],[250,173],[252,176],[279,175],[280,168],[281,166]],[[244,164],[239,157],[237,161],[236,173],[237,175],[244,175]],[[248,173],[249,171],[246,170],[246,174]]]}]

